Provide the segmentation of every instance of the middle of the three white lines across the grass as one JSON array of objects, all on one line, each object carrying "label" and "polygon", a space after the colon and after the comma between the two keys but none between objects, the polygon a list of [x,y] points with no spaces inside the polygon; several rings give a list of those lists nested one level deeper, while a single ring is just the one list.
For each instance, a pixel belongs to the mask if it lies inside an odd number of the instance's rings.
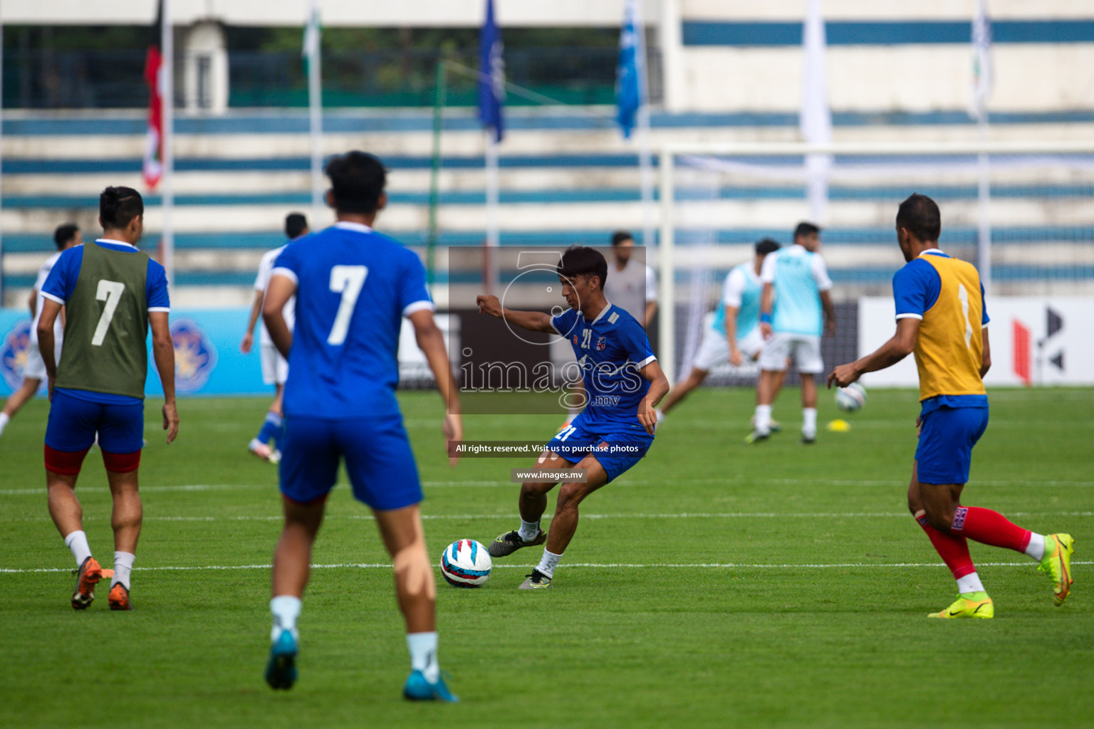
[{"label": "middle of the three white lines across the grass", "polygon": [[[1094,512],[1008,512],[1013,517],[1094,517]],[[105,521],[108,515],[84,515],[84,521]],[[243,516],[146,516],[144,521],[281,521],[281,515]],[[513,519],[512,514],[423,514],[424,521],[480,521],[489,519]],[[550,520],[550,515],[543,516],[544,521]],[[907,512],[714,512],[695,513],[679,512],[667,514],[582,514],[584,519],[910,519]],[[335,514],[327,515],[324,520],[348,519],[373,521],[371,514]],[[8,519],[8,521],[49,521],[48,516],[24,519]]]}]

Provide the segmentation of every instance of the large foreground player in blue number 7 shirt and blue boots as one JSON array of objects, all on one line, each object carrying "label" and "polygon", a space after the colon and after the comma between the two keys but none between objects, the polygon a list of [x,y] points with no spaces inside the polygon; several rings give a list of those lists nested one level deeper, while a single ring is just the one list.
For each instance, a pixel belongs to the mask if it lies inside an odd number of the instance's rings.
[{"label": "large foreground player in blue number 7 shirt and blue boots", "polygon": [[[371,154],[349,152],[327,163],[326,173],[327,204],[337,222],[286,247],[263,304],[270,338],[289,360],[281,458],[284,528],[274,552],[266,681],[289,689],[296,680],[296,619],[312,544],[344,460],[353,496],[372,508],[395,568],[411,665],[403,694],[452,702],[456,697],[437,660],[437,587],[421,527],[421,484],[395,398],[403,317],[414,326],[444,399],[447,440],[462,437],[455,380],[433,321],[424,267],[414,251],[372,230],[387,202],[383,164]],[[296,322],[290,332],[283,311],[293,296]]]}]

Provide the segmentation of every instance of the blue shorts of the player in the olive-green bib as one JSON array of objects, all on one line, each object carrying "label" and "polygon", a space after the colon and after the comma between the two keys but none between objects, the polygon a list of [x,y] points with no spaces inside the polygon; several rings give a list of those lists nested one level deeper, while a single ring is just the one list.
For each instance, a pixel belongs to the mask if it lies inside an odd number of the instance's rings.
[{"label": "blue shorts of the player in the olive-green bib", "polygon": [[86,450],[95,443],[110,454],[131,454],[144,447],[144,403],[92,402],[55,389],[46,425],[46,445],[54,450]]}]

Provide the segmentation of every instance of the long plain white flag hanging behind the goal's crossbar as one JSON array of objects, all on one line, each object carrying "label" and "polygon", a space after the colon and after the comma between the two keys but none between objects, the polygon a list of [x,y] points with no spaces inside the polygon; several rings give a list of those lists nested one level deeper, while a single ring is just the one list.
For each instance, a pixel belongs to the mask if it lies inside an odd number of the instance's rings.
[{"label": "long plain white flag hanging behind the goal's crossbar", "polygon": [[[828,69],[825,63],[824,11],[821,0],[810,0],[802,27],[802,108],[799,127],[802,139],[814,144],[831,142],[831,109],[828,108]],[[810,154],[805,160],[810,215],[814,223],[824,219],[828,207],[828,169],[831,155]]]}]

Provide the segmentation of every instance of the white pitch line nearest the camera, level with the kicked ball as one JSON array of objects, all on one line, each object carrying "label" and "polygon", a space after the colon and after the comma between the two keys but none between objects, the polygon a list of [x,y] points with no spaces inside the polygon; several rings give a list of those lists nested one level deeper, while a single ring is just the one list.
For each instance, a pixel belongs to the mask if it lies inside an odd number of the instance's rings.
[{"label": "white pitch line nearest the camera, level with the kicked ball", "polygon": [[[1072,562],[1071,564],[1082,564],[1090,565],[1094,562]],[[532,564],[496,564],[493,565],[496,569],[527,569],[534,565]],[[562,563],[559,566],[565,567],[591,567],[594,569],[650,569],[650,568],[668,568],[668,569],[854,569],[854,568],[866,568],[866,569],[908,569],[908,568],[919,568],[919,567],[945,567],[944,564],[934,562],[894,562],[891,564],[877,564],[868,562],[847,562],[838,564],[745,564],[735,562],[696,562],[696,563],[673,563],[673,564],[635,564],[635,563],[624,563],[624,562],[609,562],[609,563],[593,563],[593,562],[575,562],[575,563]],[[1032,560],[1025,562],[978,562],[977,566],[980,567],[1033,567],[1034,563]],[[163,566],[163,567],[135,567],[135,572],[182,572],[182,571],[231,571],[231,569],[269,569],[268,564],[241,564],[241,565],[206,565],[206,566]],[[344,563],[344,564],[313,564],[312,569],[391,569],[392,565],[388,563]],[[32,567],[32,568],[19,568],[19,567],[0,567],[0,574],[8,575],[27,575],[27,574],[40,574],[40,573],[71,573],[71,567]]]}]

